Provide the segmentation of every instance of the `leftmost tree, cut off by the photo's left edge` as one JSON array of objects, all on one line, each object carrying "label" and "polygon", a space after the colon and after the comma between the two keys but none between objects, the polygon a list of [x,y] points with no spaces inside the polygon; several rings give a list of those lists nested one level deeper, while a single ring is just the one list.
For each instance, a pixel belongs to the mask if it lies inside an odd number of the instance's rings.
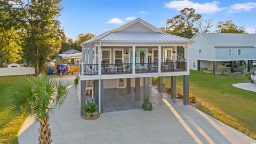
[{"label": "leftmost tree, cut off by the photo's left edge", "polygon": [[0,2],[0,67],[21,60],[20,27],[15,20],[17,11],[13,9],[12,1]]}]

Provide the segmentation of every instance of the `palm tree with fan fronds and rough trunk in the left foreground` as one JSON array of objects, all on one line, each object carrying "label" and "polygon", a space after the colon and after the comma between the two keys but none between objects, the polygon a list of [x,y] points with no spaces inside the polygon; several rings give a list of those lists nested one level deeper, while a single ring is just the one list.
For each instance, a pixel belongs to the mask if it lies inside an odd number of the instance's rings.
[{"label": "palm tree with fan fronds and rough trunk in the left foreground", "polygon": [[51,143],[49,118],[52,109],[61,106],[68,93],[68,83],[46,75],[19,76],[11,82],[7,102],[11,113],[32,116],[39,121],[39,144]]}]

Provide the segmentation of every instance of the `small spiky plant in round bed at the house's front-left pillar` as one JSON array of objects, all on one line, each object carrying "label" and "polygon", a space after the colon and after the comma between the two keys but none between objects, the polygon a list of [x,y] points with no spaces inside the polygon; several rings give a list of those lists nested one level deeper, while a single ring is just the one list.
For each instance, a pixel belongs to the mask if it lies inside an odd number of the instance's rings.
[{"label": "small spiky plant in round bed at the house's front-left pillar", "polygon": [[97,114],[94,114],[97,112],[97,104],[95,102],[89,102],[87,103],[87,105],[83,108],[84,110],[84,113],[86,115],[82,116],[84,119],[86,120],[93,120],[93,119],[97,119],[100,117],[100,115],[97,113]]}]

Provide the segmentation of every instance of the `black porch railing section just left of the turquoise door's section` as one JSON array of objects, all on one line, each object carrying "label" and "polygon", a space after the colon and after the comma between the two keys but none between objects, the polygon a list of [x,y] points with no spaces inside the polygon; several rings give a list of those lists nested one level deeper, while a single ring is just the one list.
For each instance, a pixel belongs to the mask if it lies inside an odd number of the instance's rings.
[{"label": "black porch railing section just left of the turquoise door's section", "polygon": [[101,64],[101,74],[132,74],[132,63]]}]

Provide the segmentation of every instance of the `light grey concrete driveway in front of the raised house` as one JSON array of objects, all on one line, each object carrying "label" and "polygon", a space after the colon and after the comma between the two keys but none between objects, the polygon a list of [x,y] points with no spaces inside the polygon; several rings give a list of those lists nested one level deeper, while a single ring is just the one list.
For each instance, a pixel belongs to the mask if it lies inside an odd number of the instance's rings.
[{"label": "light grey concrete driveway in front of the raised house", "polygon": [[[71,78],[66,78],[72,81]],[[94,121],[79,116],[76,90],[50,118],[52,143],[256,143],[245,134],[179,100],[163,99],[162,107],[102,113]],[[27,119],[19,143],[38,143],[38,127]]]}]

